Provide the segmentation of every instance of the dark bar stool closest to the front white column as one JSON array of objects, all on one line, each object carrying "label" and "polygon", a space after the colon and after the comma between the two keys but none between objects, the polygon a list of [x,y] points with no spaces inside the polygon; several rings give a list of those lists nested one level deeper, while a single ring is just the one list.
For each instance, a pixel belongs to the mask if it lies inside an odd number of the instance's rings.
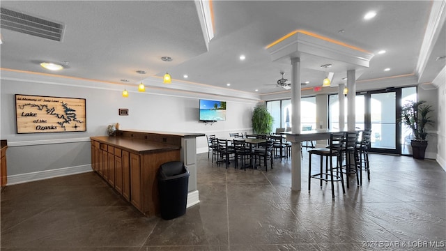
[{"label": "dark bar stool closest to the front white column", "polygon": [[[344,178],[342,175],[342,158],[341,150],[344,144],[344,132],[334,132],[330,135],[330,144],[327,148],[318,148],[308,151],[309,153],[309,165],[308,165],[308,192],[311,189],[311,179],[316,178],[327,183],[330,181],[332,185],[332,198],[334,200],[334,182],[341,181],[342,192],[345,194],[346,190],[344,188]],[[312,155],[321,156],[321,172],[318,174],[312,174]],[[325,172],[323,172],[323,157],[325,156]],[[333,167],[333,157],[337,158],[337,165]],[[328,166],[328,159],[330,158],[330,167]],[[336,169],[336,174],[333,174],[333,169]],[[325,176],[325,177],[324,177]]]}]

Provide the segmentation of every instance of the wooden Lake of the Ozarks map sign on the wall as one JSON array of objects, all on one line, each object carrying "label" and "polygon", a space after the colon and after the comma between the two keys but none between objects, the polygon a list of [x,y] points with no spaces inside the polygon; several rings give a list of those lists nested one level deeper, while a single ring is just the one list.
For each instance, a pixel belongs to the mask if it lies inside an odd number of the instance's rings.
[{"label": "wooden Lake of the Ozarks map sign on the wall", "polygon": [[85,132],[85,98],[15,94],[17,133]]}]

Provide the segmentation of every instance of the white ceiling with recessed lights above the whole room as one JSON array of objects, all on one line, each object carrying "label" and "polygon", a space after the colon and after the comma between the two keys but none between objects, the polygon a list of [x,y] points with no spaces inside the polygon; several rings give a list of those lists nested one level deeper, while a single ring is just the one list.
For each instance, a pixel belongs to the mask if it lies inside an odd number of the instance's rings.
[{"label": "white ceiling with recessed lights above the whole room", "polygon": [[[111,83],[129,79],[136,89],[137,70],[146,70],[144,77],[169,71],[174,81],[187,74],[188,82],[270,93],[280,89],[275,87],[280,71],[290,73],[291,65],[272,62],[265,47],[297,29],[375,54],[357,80],[416,75],[420,83],[431,82],[445,67],[445,60],[436,61],[446,56],[443,10],[436,37],[425,45],[426,68],[417,73],[433,1],[213,1],[212,6],[215,36],[207,50],[194,1],[1,1],[2,8],[66,26],[61,42],[2,28],[1,68],[49,73],[40,61],[68,61],[56,74]],[[369,10],[376,17],[363,20]],[[318,63],[302,61],[301,81],[309,81],[307,86],[320,86],[325,77],[322,69],[314,70]],[[334,73],[333,83],[345,82],[342,77],[346,73]],[[161,79],[160,86],[165,87]]]}]

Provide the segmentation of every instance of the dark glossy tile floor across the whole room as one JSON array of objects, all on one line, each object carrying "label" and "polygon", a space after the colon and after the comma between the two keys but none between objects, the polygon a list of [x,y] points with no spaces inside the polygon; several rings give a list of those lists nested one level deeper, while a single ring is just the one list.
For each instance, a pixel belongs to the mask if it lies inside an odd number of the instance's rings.
[{"label": "dark glossy tile floor across the whole room", "polygon": [[[371,181],[291,191],[291,160],[246,172],[198,155],[201,203],[145,218],[91,172],[1,192],[1,250],[446,250],[446,174],[433,160],[371,155]],[[314,163],[316,167],[317,162]],[[376,247],[378,245],[378,247]]]}]

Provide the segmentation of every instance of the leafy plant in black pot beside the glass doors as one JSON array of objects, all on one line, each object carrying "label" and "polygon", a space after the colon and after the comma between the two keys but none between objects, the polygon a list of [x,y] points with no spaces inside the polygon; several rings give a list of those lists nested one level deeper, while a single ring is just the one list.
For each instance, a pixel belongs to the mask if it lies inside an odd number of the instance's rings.
[{"label": "leafy plant in black pot beside the glass doors", "polygon": [[412,130],[413,139],[410,142],[413,158],[424,160],[426,153],[428,132],[426,127],[433,126],[435,121],[431,119],[432,105],[426,105],[426,101],[410,101],[401,109],[401,121]]}]

